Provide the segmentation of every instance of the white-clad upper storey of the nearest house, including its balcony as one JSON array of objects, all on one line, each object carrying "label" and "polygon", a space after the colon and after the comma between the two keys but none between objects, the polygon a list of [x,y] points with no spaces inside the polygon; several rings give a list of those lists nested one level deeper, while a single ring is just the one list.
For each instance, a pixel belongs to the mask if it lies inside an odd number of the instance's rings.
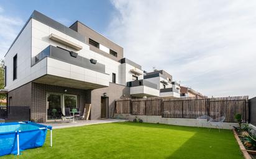
[{"label": "white-clad upper storey of the nearest house, including its balcony", "polygon": [[[126,78],[121,77],[122,48],[94,36],[103,43],[97,48],[105,50],[103,54],[91,49],[89,37],[81,33],[34,11],[6,53],[5,88],[10,91],[28,82],[83,89],[108,87],[109,82],[126,85]],[[109,47],[109,53],[104,47]]]}]

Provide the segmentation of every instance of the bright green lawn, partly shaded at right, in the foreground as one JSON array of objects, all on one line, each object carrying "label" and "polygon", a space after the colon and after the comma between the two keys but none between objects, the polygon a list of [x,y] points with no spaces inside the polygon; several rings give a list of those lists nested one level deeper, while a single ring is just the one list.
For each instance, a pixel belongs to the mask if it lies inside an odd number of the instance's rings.
[{"label": "bright green lawn, partly shaded at right, in the foreground", "polygon": [[4,158],[242,159],[232,131],[118,122],[53,130],[45,145]]}]

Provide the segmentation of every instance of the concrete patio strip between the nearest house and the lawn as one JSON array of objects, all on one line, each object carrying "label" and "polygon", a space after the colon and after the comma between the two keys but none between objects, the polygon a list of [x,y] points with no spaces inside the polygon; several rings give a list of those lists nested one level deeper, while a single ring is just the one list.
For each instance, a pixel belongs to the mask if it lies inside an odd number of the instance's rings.
[{"label": "concrete patio strip between the nearest house and the lawn", "polygon": [[67,127],[77,127],[77,126],[88,126],[93,124],[105,124],[111,122],[125,122],[129,121],[126,119],[98,119],[98,120],[88,120],[88,121],[75,121],[75,122],[66,122],[66,121],[53,121],[53,122],[45,122],[42,123],[47,126],[52,126],[53,129],[62,129]]}]

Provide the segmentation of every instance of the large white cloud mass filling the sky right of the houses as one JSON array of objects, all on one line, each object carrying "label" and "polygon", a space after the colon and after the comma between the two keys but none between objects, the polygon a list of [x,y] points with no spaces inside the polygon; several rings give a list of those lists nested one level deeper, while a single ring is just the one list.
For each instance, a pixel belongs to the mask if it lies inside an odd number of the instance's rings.
[{"label": "large white cloud mass filling the sky right of the houses", "polygon": [[122,1],[107,34],[125,56],[205,95],[256,95],[256,1]]}]

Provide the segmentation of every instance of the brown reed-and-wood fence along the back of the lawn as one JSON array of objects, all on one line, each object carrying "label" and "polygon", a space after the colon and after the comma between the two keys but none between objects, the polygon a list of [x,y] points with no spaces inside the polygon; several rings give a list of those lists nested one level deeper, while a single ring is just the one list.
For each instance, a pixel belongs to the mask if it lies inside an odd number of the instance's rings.
[{"label": "brown reed-and-wood fence along the back of the lawn", "polygon": [[208,115],[216,119],[226,116],[225,122],[235,122],[240,113],[249,118],[248,97],[222,98],[139,98],[116,100],[116,114],[162,116],[163,118],[191,118]]}]

